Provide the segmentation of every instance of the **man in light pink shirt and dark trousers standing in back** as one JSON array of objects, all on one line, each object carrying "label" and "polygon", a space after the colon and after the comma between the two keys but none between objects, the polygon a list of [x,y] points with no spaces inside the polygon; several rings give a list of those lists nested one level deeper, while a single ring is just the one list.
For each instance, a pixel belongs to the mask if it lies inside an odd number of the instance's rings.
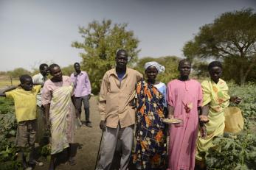
[{"label": "man in light pink shirt and dark trousers standing in back", "polygon": [[78,116],[81,118],[81,107],[82,102],[84,106],[84,110],[86,113],[86,126],[91,126],[91,121],[89,120],[90,109],[89,109],[89,99],[91,93],[91,83],[86,71],[80,70],[80,64],[74,64],[75,72],[71,74],[70,79],[74,84],[74,94],[75,94],[75,105],[78,110]]}]

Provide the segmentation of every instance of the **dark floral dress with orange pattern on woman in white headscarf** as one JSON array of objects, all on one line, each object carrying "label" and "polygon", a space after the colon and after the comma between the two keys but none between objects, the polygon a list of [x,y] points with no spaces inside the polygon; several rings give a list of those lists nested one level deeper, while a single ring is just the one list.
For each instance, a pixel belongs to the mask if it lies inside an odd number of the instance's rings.
[{"label": "dark floral dress with orange pattern on woman in white headscarf", "polygon": [[136,85],[136,97],[136,149],[133,162],[139,169],[162,168],[167,150],[165,124],[161,121],[161,118],[165,118],[165,96],[156,87],[141,80]]}]

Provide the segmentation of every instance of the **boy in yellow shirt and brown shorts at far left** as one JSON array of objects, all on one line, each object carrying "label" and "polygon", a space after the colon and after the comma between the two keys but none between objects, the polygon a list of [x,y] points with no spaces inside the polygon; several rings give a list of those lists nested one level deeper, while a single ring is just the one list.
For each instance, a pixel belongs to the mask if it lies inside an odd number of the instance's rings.
[{"label": "boy in yellow shirt and brown shorts at far left", "polygon": [[[15,144],[21,148],[21,157],[24,169],[32,169],[31,166],[38,164],[35,160],[35,133],[36,122],[36,95],[40,92],[41,85],[35,85],[29,75],[20,77],[21,84],[18,87],[8,88],[0,96],[14,99],[15,116],[18,122]],[[30,147],[30,160],[27,164],[24,149]],[[42,163],[39,163],[39,166]],[[28,167],[30,166],[30,167]]]}]

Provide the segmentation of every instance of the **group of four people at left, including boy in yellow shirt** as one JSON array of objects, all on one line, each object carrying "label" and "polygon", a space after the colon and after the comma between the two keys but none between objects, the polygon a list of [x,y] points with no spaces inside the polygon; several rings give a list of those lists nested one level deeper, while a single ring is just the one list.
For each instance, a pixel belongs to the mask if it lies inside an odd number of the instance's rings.
[{"label": "group of four people at left, including boy in yellow shirt", "polygon": [[[32,166],[43,166],[35,160],[35,140],[41,140],[46,130],[51,133],[51,159],[49,170],[55,169],[55,160],[58,153],[67,149],[69,164],[75,165],[71,155],[74,142],[75,118],[80,120],[82,102],[85,109],[87,127],[89,120],[89,99],[91,84],[86,71],[80,70],[80,64],[74,64],[75,72],[71,77],[63,76],[57,64],[41,64],[40,73],[33,77],[22,75],[20,85],[7,88],[0,96],[13,99],[15,116],[18,122],[16,146],[20,149],[18,155],[24,169]],[[47,75],[51,74],[51,79]],[[44,128],[45,127],[45,128]],[[27,161],[24,151],[30,149],[30,158]]]}]

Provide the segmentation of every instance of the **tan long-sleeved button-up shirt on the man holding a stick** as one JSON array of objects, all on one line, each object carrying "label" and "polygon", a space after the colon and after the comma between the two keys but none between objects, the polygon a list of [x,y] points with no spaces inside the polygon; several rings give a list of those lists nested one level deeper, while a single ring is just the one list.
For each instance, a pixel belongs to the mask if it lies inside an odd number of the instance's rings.
[{"label": "tan long-sleeved button-up shirt on the man holding a stick", "polygon": [[122,81],[117,77],[116,69],[113,68],[103,77],[100,88],[100,118],[106,121],[106,126],[117,128],[120,121],[121,127],[128,127],[135,123],[135,110],[128,105],[135,96],[135,85],[142,74],[138,71],[126,68]]}]

